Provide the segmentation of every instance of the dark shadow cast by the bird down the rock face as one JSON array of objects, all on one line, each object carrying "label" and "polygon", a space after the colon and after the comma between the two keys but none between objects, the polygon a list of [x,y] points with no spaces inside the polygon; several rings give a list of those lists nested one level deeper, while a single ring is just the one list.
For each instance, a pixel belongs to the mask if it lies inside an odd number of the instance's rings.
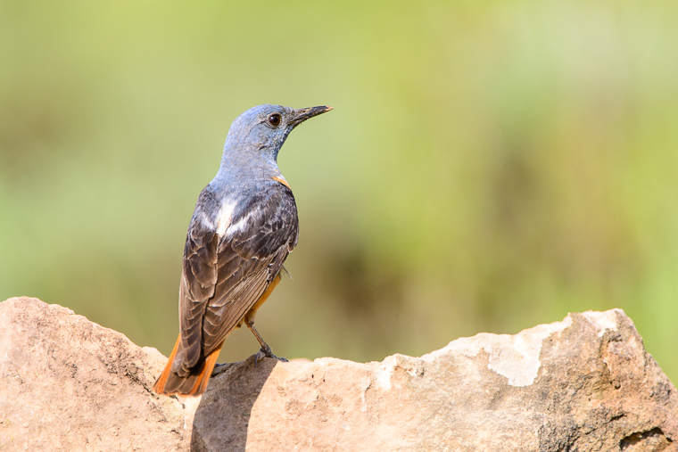
[{"label": "dark shadow cast by the bird down the rock face", "polygon": [[254,355],[219,367],[195,411],[192,452],[244,451],[252,406],[278,361]]}]

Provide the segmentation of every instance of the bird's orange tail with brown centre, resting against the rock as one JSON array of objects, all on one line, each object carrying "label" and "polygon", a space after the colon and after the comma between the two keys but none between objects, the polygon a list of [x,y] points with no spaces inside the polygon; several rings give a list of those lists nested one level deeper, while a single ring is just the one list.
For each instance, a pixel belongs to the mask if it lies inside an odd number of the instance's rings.
[{"label": "bird's orange tail with brown centre, resting against the rock", "polygon": [[217,349],[212,351],[191,369],[190,374],[181,377],[172,372],[172,362],[177,355],[179,341],[181,341],[180,335],[177,339],[177,343],[174,344],[174,349],[167,362],[167,366],[165,366],[162,374],[160,374],[158,380],[153,385],[153,391],[156,394],[163,396],[199,396],[207,389],[207,383],[210,382],[211,373],[214,369],[214,365],[217,363],[217,357],[219,357],[219,351],[221,351],[223,342]]}]

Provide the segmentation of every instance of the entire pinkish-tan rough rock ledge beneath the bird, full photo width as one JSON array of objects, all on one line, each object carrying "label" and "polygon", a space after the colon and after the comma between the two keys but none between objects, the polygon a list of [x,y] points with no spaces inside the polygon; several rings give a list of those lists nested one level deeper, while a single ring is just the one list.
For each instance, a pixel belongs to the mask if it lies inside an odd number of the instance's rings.
[{"label": "entire pinkish-tan rough rock ledge beneath the bird, full photo width", "polygon": [[618,309],[381,363],[219,367],[150,391],[165,358],[67,308],[0,303],[0,451],[674,451],[678,392]]}]

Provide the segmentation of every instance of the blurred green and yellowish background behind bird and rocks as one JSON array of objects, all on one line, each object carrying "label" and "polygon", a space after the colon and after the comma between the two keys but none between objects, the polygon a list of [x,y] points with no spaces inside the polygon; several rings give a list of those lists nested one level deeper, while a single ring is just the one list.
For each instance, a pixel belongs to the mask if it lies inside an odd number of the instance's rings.
[{"label": "blurred green and yellowish background behind bird and rocks", "polygon": [[[260,103],[301,239],[258,329],[380,360],[624,308],[678,380],[678,2],[0,0],[0,300],[170,352],[194,202]],[[229,338],[221,360],[258,350]]]}]

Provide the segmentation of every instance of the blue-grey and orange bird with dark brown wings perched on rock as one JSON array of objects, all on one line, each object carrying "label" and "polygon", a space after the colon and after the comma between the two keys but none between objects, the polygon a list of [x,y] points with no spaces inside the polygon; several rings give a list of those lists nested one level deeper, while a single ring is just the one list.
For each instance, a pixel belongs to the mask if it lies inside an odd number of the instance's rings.
[{"label": "blue-grey and orange bird with dark brown wings perched on rock", "polygon": [[217,176],[198,196],[186,233],[179,334],[156,394],[203,394],[224,341],[243,324],[260,343],[257,357],[286,361],[254,328],[299,239],[294,194],[277,154],[294,127],[330,110],[264,104],[231,124]]}]

